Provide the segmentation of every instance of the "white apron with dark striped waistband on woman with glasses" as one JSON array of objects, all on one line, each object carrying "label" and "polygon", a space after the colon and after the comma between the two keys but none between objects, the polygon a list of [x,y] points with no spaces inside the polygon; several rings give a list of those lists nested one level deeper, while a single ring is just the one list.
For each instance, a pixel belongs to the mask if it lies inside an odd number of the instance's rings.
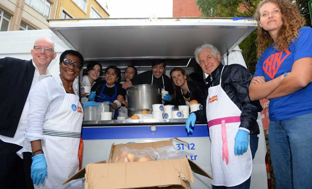
[{"label": "white apron with dark striped waistband on woman with glasses", "polygon": [[79,169],[78,148],[83,110],[79,97],[66,93],[56,114],[43,124],[45,145],[42,146],[47,163],[48,176],[35,188],[65,189],[83,188],[82,179],[62,185]]}]

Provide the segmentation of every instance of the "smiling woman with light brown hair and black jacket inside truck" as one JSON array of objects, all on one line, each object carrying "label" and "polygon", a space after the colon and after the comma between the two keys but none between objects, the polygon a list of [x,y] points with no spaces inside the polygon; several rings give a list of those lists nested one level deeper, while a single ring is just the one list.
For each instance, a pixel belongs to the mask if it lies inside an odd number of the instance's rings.
[{"label": "smiling woman with light brown hair and black jacket inside truck", "polygon": [[174,100],[178,105],[190,105],[191,100],[197,100],[198,103],[206,106],[205,85],[191,80],[185,70],[180,67],[173,68],[170,71],[170,77],[173,81]]}]

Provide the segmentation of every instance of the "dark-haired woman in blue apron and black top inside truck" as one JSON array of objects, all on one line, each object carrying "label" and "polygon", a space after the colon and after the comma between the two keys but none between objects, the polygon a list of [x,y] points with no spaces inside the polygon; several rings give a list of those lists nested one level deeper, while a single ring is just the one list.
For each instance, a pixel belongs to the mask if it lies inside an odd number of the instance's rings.
[{"label": "dark-haired woman in blue apron and black top inside truck", "polygon": [[121,103],[117,100],[118,95],[123,97],[126,91],[121,88],[119,83],[121,71],[115,65],[110,65],[105,69],[105,80],[95,83],[89,95],[90,101],[110,103],[116,109],[114,119],[118,116]]}]

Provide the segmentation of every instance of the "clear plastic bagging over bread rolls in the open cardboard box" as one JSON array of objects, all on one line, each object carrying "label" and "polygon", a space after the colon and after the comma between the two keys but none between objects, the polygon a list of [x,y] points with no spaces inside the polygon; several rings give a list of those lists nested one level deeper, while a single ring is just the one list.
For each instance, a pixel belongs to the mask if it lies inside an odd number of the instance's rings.
[{"label": "clear plastic bagging over bread rolls in the open cardboard box", "polygon": [[193,155],[192,153],[184,152],[174,148],[173,146],[164,146],[157,148],[148,147],[141,150],[134,148],[122,147],[113,162],[146,162],[154,160],[165,160],[165,159],[179,159],[185,156]]}]

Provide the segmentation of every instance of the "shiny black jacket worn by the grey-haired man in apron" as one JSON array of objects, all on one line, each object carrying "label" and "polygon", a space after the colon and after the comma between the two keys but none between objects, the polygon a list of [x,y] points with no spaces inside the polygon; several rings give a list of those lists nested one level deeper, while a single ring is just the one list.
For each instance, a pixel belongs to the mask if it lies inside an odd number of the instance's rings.
[{"label": "shiny black jacket worn by the grey-haired man in apron", "polygon": [[[223,65],[220,64],[211,73],[211,76],[206,78],[207,88],[219,85],[222,67]],[[259,125],[256,120],[258,112],[262,111],[262,106],[259,100],[251,101],[249,98],[248,87],[251,79],[251,73],[244,66],[239,64],[227,65],[222,72],[221,87],[241,110],[241,124],[239,127],[248,129],[250,134],[259,134]],[[207,95],[208,93],[206,93],[206,99]],[[197,121],[207,121],[206,109],[197,110],[194,113]]]}]

